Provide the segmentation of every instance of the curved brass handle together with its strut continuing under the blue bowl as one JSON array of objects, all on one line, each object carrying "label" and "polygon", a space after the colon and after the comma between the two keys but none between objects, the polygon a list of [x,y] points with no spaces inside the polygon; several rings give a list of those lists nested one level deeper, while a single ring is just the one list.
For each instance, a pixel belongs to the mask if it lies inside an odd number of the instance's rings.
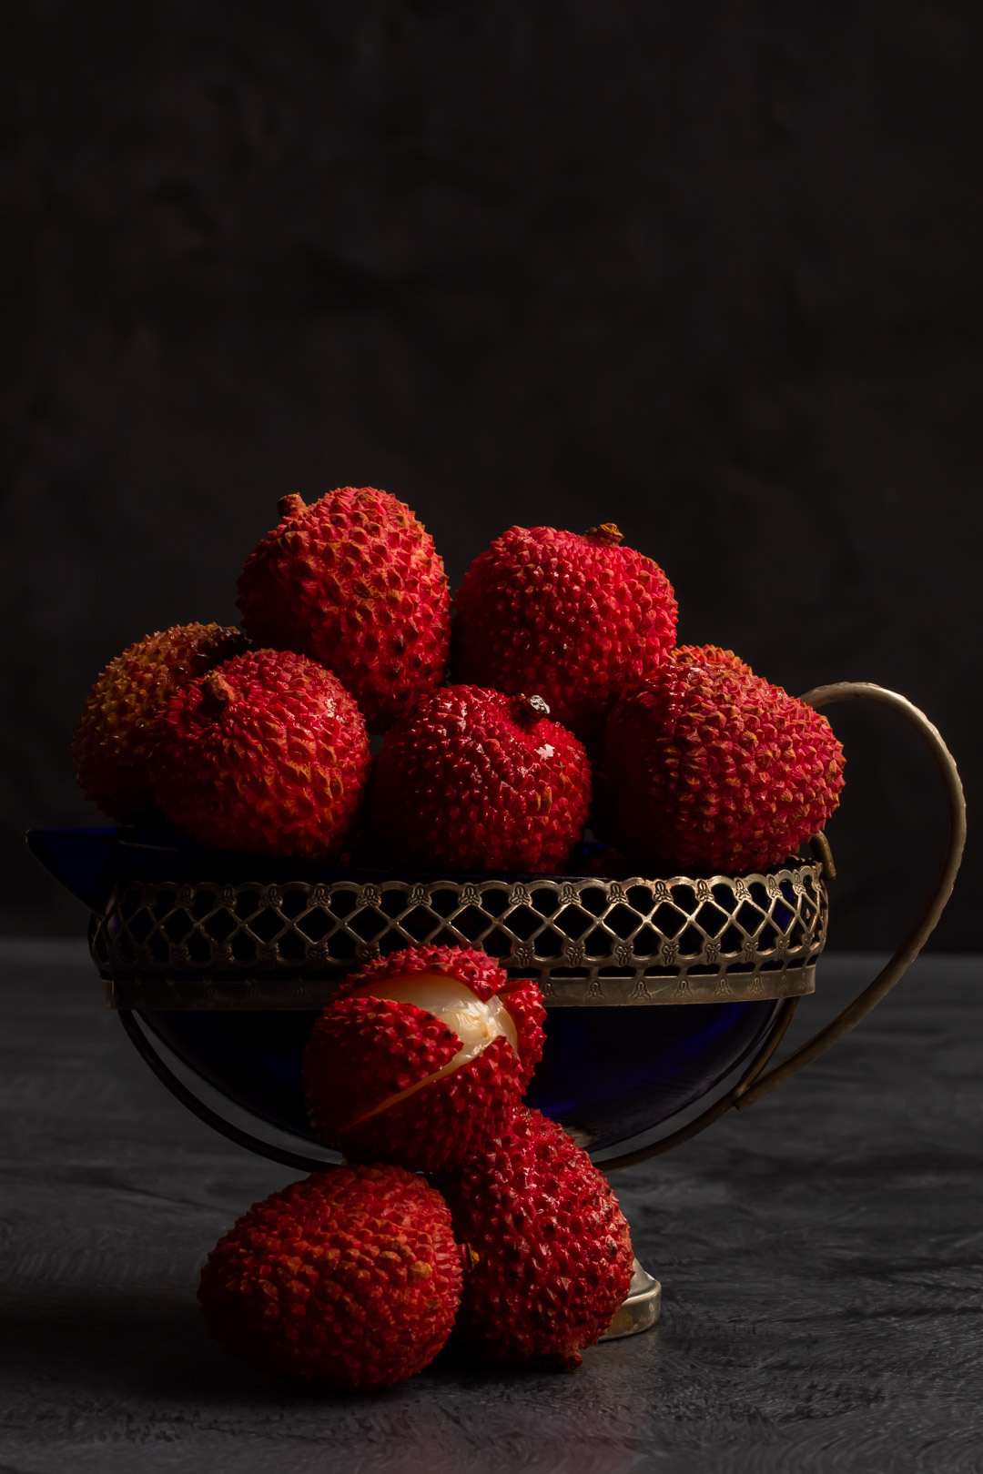
[{"label": "curved brass handle together with its strut continuing under the blue bowl", "polygon": [[[959,861],[962,859],[962,846],[965,845],[965,799],[962,796],[962,784],[959,781],[959,774],[952,753],[926,713],[920,712],[918,708],[914,706],[905,696],[899,696],[898,691],[887,691],[883,685],[874,685],[870,681],[837,681],[833,685],[816,685],[812,691],[806,691],[802,700],[816,709],[819,706],[830,706],[833,702],[880,702],[883,706],[890,706],[893,710],[900,712],[900,715],[911,722],[931,752],[946,790],[946,803],[949,809],[949,842],[946,845],[946,853],[939,879],[936,880],[924,911],[892,957],[887,967],[881,968],[870,988],[864,989],[859,998],[855,998],[853,1002],[833,1020],[833,1023],[815,1033],[812,1039],[800,1048],[793,1049],[793,1052],[783,1060],[781,1064],[777,1064],[774,1070],[768,1070],[768,1073],[763,1075],[762,1072],[778,1048],[783,1035],[791,1023],[796,1005],[799,1004],[797,998],[786,999],[771,1038],[765,1044],[760,1054],[752,1060],[737,1085],[727,1091],[712,1106],[707,1106],[707,1108],[693,1120],[687,1122],[685,1126],[679,1126],[678,1131],[671,1132],[668,1136],[662,1136],[646,1147],[637,1147],[634,1151],[625,1151],[618,1157],[609,1157],[600,1162],[598,1166],[603,1172],[620,1172],[623,1167],[634,1167],[640,1162],[647,1162],[650,1157],[657,1157],[663,1151],[672,1151],[674,1147],[681,1147],[684,1141],[690,1141],[693,1136],[697,1136],[702,1131],[706,1131],[707,1126],[712,1126],[715,1120],[719,1120],[721,1116],[725,1116],[731,1106],[735,1106],[737,1110],[747,1110],[749,1106],[759,1101],[762,1095],[768,1095],[771,1091],[777,1089],[805,1064],[809,1064],[812,1060],[830,1049],[839,1039],[843,1038],[843,1035],[849,1033],[850,1029],[855,1029],[861,1019],[864,1019],[871,1008],[875,1008],[881,998],[884,998],[884,995],[892,991],[895,983],[899,982],[908,965],[914,963],[918,952],[931,936],[936,923],[945,909],[945,904],[952,895],[952,886],[959,870]],[[833,865],[828,858],[828,846],[825,845],[822,836],[815,836],[814,846],[816,842],[819,842],[819,849],[825,850],[824,865],[833,874]]]}]

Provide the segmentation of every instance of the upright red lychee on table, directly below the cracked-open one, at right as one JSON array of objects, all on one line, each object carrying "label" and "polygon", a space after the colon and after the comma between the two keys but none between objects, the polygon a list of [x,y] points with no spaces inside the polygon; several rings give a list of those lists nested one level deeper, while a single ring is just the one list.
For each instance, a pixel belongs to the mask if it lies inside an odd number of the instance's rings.
[{"label": "upright red lychee on table, directly below the cracked-open one, at right", "polygon": [[607,1179],[562,1126],[520,1107],[438,1185],[470,1265],[455,1338],[495,1362],[578,1366],[632,1276]]}]

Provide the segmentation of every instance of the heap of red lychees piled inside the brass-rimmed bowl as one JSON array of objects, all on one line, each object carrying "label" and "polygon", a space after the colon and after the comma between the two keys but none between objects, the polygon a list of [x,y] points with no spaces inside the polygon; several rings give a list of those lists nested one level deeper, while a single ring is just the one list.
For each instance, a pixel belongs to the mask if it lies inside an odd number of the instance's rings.
[{"label": "heap of red lychees piled inside the brass-rimmed bowl", "polygon": [[590,821],[622,873],[741,874],[836,808],[825,718],[731,652],[676,646],[666,575],[613,523],[510,528],[451,610],[433,539],[389,492],[279,510],[239,581],[242,631],[147,635],[96,681],[74,761],[113,820],[519,873],[575,868]]}]

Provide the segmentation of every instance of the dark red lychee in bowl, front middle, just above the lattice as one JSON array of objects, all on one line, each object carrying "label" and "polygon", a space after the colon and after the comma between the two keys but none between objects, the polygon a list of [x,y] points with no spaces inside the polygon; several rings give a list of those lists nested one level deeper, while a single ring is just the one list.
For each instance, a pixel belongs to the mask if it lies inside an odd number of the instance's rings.
[{"label": "dark red lychee in bowl, front middle, just above the lattice", "polygon": [[562,870],[587,822],[591,765],[519,699],[448,685],[386,733],[370,789],[368,839],[391,862]]}]

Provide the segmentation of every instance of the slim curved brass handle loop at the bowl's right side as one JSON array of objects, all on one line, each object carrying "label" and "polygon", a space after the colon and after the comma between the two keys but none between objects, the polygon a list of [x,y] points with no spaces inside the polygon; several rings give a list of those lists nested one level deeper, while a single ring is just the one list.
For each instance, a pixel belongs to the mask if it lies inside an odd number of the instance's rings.
[{"label": "slim curved brass handle loop at the bowl's right side", "polygon": [[883,685],[872,685],[870,681],[837,681],[834,685],[816,685],[812,691],[806,691],[802,700],[815,708],[831,706],[833,702],[880,702],[881,706],[890,706],[908,722],[911,722],[928,747],[936,761],[936,766],[942,774],[942,781],[946,790],[946,803],[949,808],[949,842],[946,845],[942,870],[931,895],[928,896],[921,915],[892,957],[890,963],[881,968],[874,982],[865,988],[864,992],[833,1020],[833,1023],[828,1023],[825,1029],[819,1029],[819,1032],[815,1033],[806,1044],[793,1049],[793,1052],[784,1058],[781,1064],[768,1070],[766,1075],[759,1075],[758,1079],[747,1080],[743,1089],[738,1088],[737,1100],[734,1101],[738,1110],[747,1110],[747,1107],[753,1106],[755,1101],[759,1101],[762,1095],[768,1095],[771,1091],[778,1089],[778,1086],[784,1085],[787,1079],[797,1075],[805,1064],[809,1064],[821,1054],[825,1054],[825,1051],[837,1044],[843,1035],[849,1033],[850,1029],[856,1029],[861,1019],[871,1013],[872,1008],[877,1008],[881,998],[884,998],[892,991],[895,983],[899,982],[905,970],[911,963],[914,963],[918,952],[934,932],[936,923],[945,909],[945,904],[952,895],[952,886],[959,870],[959,861],[962,859],[962,846],[965,845],[965,797],[962,794],[962,783],[959,781],[959,774],[952,753],[924,712],[920,712],[917,706],[912,706],[912,703],[906,697],[899,696],[898,691],[887,691]]}]

